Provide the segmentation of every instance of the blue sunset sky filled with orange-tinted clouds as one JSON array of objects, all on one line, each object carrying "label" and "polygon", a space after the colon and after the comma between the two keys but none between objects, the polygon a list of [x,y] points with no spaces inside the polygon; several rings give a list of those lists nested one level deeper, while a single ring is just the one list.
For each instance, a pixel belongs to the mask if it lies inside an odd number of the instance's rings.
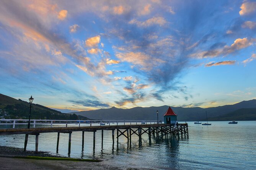
[{"label": "blue sunset sky filled with orange-tinted clouds", "polygon": [[256,1],[1,0],[0,93],[62,112],[256,99]]}]

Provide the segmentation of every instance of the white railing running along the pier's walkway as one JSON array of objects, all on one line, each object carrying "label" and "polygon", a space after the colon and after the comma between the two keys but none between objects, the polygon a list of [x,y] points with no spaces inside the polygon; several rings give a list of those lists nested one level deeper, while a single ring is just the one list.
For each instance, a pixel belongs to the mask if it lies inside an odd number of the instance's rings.
[{"label": "white railing running along the pier's walkway", "polygon": [[[28,125],[28,119],[0,119],[1,125]],[[36,125],[47,125],[47,127],[53,127],[54,125],[65,127],[80,127],[80,126],[111,126],[111,125],[140,125],[140,124],[154,124],[157,120],[41,120],[41,119],[31,119],[30,127],[36,127]],[[8,127],[10,128],[10,127]],[[20,127],[19,127],[20,128]]]}]

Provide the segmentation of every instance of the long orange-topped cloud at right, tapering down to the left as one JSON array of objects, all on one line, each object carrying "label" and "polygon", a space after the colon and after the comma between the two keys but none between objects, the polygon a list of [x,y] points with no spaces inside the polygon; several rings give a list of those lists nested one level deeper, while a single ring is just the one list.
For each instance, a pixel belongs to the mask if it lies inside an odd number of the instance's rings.
[{"label": "long orange-topped cloud at right, tapering down to the left", "polygon": [[233,53],[237,50],[241,50],[242,48],[249,47],[253,45],[254,39],[248,39],[248,38],[237,38],[234,43],[230,46],[225,45],[223,48],[218,49],[212,49],[209,51],[202,51],[200,53],[194,53],[191,54],[191,57],[196,58],[207,58],[207,57],[216,57],[219,55],[228,55],[230,53]]}]

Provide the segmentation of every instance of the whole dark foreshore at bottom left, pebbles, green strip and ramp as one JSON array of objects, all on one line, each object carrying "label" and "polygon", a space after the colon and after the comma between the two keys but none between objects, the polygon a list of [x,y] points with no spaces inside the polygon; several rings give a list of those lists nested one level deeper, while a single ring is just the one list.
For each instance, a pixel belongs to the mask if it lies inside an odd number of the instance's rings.
[{"label": "whole dark foreshore at bottom left, pebbles, green strip and ramp", "polygon": [[[120,170],[119,167],[106,165],[97,159],[75,159],[49,152],[23,151],[23,148],[0,146],[0,170]],[[122,168],[127,169],[127,168]]]}]

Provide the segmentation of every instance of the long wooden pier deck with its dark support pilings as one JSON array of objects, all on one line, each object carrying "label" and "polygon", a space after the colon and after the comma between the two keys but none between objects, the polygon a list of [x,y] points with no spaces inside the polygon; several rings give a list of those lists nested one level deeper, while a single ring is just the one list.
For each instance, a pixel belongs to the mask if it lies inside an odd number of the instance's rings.
[{"label": "long wooden pier deck with its dark support pilings", "polygon": [[181,135],[181,137],[188,136],[188,123],[175,123],[175,124],[140,124],[140,125],[111,125],[111,126],[90,126],[90,127],[47,127],[47,128],[9,128],[0,129],[0,135],[16,135],[25,134],[24,141],[24,151],[26,151],[26,146],[28,143],[28,135],[36,136],[36,149],[38,152],[39,134],[40,133],[58,133],[57,135],[57,147],[59,149],[59,138],[60,133],[68,133],[68,153],[71,149],[71,136],[72,132],[82,132],[82,147],[84,145],[84,132],[93,132],[93,149],[95,149],[95,133],[97,130],[101,130],[101,145],[103,146],[103,131],[112,130],[112,140],[114,144],[114,133],[116,130],[116,138],[120,136],[125,136],[127,141],[131,141],[132,135],[139,136],[139,141],[142,139],[144,133],[148,134],[149,139],[151,136],[153,138],[163,138],[163,136],[168,135]]}]

